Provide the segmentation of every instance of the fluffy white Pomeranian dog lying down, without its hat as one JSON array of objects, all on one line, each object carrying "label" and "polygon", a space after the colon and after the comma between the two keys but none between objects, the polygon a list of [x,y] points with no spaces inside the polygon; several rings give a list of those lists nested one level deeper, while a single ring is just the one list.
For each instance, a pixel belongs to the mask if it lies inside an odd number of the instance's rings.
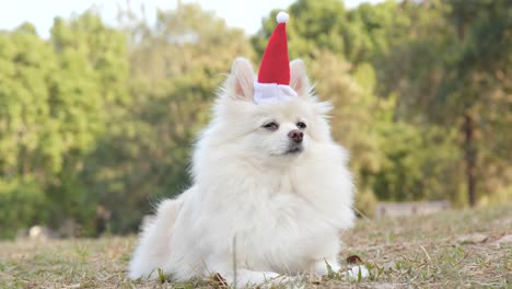
[{"label": "fluffy white Pomeranian dog lying down, without its hat", "polygon": [[[160,204],[142,230],[130,278],[156,278],[161,268],[176,280],[219,273],[231,284],[236,267],[243,287],[325,275],[325,262],[339,269],[339,233],[354,219],[348,153],[331,140],[330,105],[311,94],[304,63],[290,66],[299,97],[256,105],[254,70],[243,58],[234,61],[197,142],[194,185]],[[279,129],[263,127],[270,122]],[[298,122],[307,125],[303,150],[287,153]]]}]

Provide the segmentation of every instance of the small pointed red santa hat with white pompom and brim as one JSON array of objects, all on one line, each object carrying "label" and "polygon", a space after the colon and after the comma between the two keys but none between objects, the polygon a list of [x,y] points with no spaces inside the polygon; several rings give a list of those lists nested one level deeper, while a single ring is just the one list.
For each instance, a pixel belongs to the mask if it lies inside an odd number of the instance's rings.
[{"label": "small pointed red santa hat with white pompom and brim", "polygon": [[254,83],[254,101],[259,103],[280,103],[296,97],[290,88],[290,60],[288,58],[287,22],[289,15],[279,12],[278,25],[274,30],[265,49],[258,79]]}]

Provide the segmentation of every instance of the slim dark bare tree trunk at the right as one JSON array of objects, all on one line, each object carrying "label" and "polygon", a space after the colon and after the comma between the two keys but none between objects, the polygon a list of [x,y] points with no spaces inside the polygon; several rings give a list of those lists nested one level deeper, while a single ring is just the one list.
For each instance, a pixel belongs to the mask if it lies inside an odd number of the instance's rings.
[{"label": "slim dark bare tree trunk at the right", "polygon": [[466,163],[467,196],[469,206],[476,205],[476,151],[474,148],[474,123],[469,114],[464,114],[464,161]]}]

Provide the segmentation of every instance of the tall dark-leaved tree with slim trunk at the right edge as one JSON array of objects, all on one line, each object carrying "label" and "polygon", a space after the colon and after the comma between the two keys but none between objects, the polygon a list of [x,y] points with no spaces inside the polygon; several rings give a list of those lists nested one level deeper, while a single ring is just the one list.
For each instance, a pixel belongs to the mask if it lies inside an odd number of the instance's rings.
[{"label": "tall dark-leaved tree with slim trunk at the right edge", "polygon": [[[412,4],[411,15],[424,21],[415,22],[410,27],[412,37],[395,46],[385,62],[393,70],[400,68],[396,73],[386,73],[391,78],[382,81],[383,91],[400,95],[399,118],[442,126],[446,131],[459,128],[470,206],[492,192],[507,194],[498,190],[510,187],[510,155],[508,150],[499,149],[508,140],[494,137],[510,135],[503,130],[510,122],[505,101],[510,90],[505,81],[510,10],[508,1]],[[426,18],[429,14],[437,16]]]}]

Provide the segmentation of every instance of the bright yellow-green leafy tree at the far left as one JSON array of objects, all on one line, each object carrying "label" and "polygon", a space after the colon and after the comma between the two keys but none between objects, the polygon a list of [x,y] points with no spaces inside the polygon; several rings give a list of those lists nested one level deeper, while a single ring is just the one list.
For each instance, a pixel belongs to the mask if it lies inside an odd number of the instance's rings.
[{"label": "bright yellow-green leafy tree at the far left", "polygon": [[[37,188],[51,200],[44,212],[37,212],[39,203],[25,201],[40,218],[20,218],[18,227],[57,228],[69,218],[89,226],[94,203],[80,173],[105,131],[109,106],[126,99],[115,90],[127,76],[124,39],[92,12],[70,23],[57,19],[49,42],[30,25],[0,35],[0,147],[9,151],[0,155],[0,176],[8,184],[31,180],[30,187],[22,182],[16,189]],[[108,46],[112,41],[117,43]]]}]

